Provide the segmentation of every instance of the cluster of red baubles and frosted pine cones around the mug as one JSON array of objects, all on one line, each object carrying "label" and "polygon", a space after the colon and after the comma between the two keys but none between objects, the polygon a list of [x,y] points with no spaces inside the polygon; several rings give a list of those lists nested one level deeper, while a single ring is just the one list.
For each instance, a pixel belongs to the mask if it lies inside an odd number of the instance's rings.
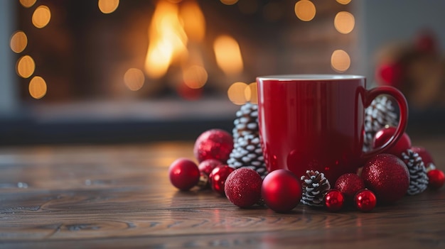
[{"label": "cluster of red baubles and frosted pine cones around the mug", "polygon": [[[394,111],[385,97],[368,107],[363,150],[385,144],[395,133]],[[232,135],[220,129],[199,135],[193,148],[198,164],[187,158],[175,160],[168,169],[171,184],[182,191],[212,189],[240,208],[265,205],[283,213],[300,203],[328,211],[355,206],[368,212],[377,201],[389,204],[428,187],[439,189],[445,183],[444,172],[436,169],[429,152],[412,146],[406,133],[385,154],[370,158],[360,175],[348,173],[336,182],[330,183],[323,172],[315,170],[302,176],[289,170],[267,172],[257,118],[257,105],[248,103],[237,111]]]}]

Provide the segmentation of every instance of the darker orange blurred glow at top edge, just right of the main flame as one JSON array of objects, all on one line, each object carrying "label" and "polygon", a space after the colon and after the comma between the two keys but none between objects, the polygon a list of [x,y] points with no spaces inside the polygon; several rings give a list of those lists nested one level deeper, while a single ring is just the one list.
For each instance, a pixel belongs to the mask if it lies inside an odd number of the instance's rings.
[{"label": "darker orange blurred glow at top edge, just right of the main flame", "polygon": [[191,40],[201,41],[205,35],[205,19],[198,3],[186,1],[179,11],[183,21],[184,31]]}]

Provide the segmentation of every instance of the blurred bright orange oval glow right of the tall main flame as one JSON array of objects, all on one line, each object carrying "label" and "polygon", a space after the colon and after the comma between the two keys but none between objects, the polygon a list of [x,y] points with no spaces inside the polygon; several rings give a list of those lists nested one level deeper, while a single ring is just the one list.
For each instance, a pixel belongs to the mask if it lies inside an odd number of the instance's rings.
[{"label": "blurred bright orange oval glow right of the tall main flame", "polygon": [[215,50],[216,62],[225,74],[239,74],[242,72],[240,45],[234,38],[228,35],[219,36],[213,43],[213,49]]}]

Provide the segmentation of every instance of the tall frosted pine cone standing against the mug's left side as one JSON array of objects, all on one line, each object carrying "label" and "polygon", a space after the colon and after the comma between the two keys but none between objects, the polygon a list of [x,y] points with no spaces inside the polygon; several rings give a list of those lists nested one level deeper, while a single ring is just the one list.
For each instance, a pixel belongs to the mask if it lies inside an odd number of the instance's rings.
[{"label": "tall frosted pine cone standing against the mug's left side", "polygon": [[247,103],[237,111],[233,128],[233,150],[227,165],[238,169],[248,167],[265,177],[266,164],[262,153],[258,130],[258,106]]}]

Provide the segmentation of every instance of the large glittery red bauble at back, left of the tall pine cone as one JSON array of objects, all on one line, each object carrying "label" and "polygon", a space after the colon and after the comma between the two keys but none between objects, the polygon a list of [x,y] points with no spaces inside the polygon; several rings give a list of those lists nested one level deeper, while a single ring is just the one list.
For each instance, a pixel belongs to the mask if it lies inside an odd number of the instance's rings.
[{"label": "large glittery red bauble at back, left of the tall pine cone", "polygon": [[216,159],[227,162],[233,149],[232,135],[220,129],[203,132],[195,141],[193,153],[198,162],[206,159]]}]

